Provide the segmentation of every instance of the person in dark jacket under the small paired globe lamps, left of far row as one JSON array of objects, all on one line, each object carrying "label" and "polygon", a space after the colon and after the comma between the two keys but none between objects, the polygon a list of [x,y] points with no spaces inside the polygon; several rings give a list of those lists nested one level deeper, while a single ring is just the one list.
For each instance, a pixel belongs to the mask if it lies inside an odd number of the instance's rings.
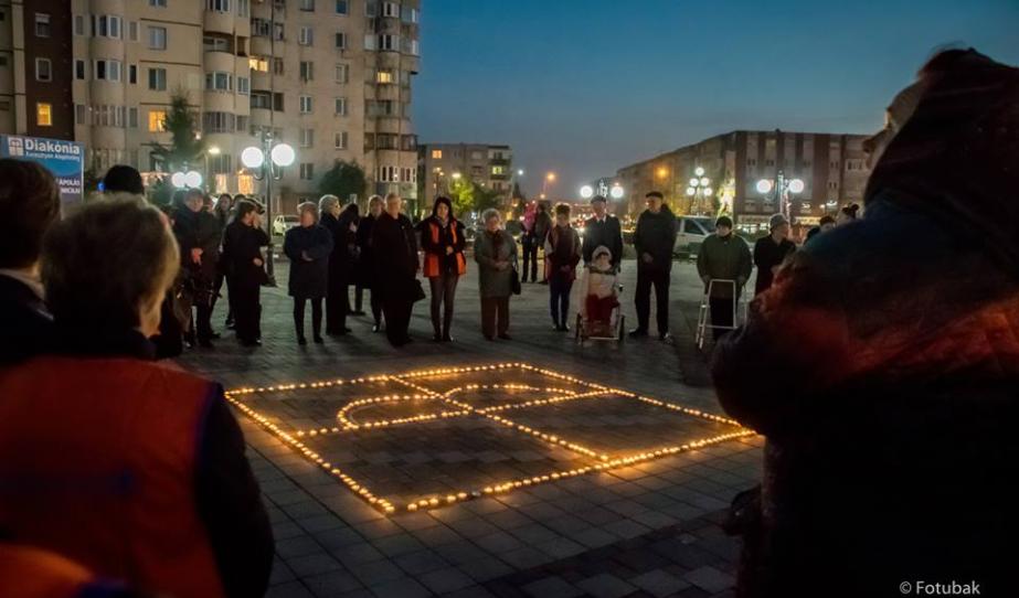
[{"label": "person in dark jacket under the small paired globe lamps, left of far row", "polygon": [[173,234],[180,245],[185,289],[195,307],[194,335],[200,346],[212,348],[212,286],[219,263],[220,231],[215,216],[204,209],[205,194],[191,189],[184,206],[173,215]]}]

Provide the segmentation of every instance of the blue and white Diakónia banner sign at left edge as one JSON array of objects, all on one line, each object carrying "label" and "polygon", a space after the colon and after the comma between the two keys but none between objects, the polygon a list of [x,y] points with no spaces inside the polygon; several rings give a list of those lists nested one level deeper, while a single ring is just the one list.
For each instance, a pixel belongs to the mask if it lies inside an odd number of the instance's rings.
[{"label": "blue and white Diak\u00f3nia banner sign at left edge", "polygon": [[60,186],[64,205],[79,203],[85,193],[85,147],[75,141],[0,135],[0,158],[39,162]]}]

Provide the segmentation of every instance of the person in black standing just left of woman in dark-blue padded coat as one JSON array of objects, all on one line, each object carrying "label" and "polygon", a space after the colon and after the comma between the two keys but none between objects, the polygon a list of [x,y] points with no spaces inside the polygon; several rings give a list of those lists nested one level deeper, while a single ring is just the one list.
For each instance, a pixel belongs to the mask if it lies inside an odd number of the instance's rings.
[{"label": "person in black standing just left of woman in dark-blue padded coat", "polygon": [[258,295],[266,281],[265,258],[262,247],[269,244],[269,236],[262,229],[262,215],[254,203],[242,201],[236,207],[236,217],[226,226],[223,235],[224,263],[229,273],[231,303],[236,317],[237,340],[244,346],[262,344],[262,303]]}]

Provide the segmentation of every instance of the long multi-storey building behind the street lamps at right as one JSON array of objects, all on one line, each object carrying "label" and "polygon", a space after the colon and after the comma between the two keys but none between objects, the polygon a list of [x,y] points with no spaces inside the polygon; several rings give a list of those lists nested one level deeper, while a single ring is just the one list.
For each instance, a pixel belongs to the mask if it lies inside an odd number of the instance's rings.
[{"label": "long multi-storey building behind the street lamps at right", "polygon": [[[786,131],[733,131],[656,156],[618,171],[626,191],[625,209],[644,210],[644,196],[661,191],[679,213],[717,214],[726,204],[736,226],[747,233],[766,227],[779,211],[774,193],[757,191],[761,179],[800,179],[804,190],[789,195],[794,226],[813,226],[825,214],[849,203],[861,203],[870,170],[864,135]],[[703,174],[697,177],[697,169]],[[708,179],[694,186],[691,179]],[[707,190],[710,189],[710,192]]]}]

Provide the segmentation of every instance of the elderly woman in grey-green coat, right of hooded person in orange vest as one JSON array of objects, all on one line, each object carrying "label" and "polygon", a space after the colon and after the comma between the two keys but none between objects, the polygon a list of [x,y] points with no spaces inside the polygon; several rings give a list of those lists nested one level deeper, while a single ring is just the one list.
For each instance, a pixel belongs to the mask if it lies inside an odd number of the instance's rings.
[{"label": "elderly woman in grey-green coat, right of hooded person in orange vest", "polygon": [[493,209],[481,214],[485,232],[474,242],[481,289],[481,333],[489,341],[508,341],[509,297],[513,293],[517,242],[502,229],[502,218]]}]

